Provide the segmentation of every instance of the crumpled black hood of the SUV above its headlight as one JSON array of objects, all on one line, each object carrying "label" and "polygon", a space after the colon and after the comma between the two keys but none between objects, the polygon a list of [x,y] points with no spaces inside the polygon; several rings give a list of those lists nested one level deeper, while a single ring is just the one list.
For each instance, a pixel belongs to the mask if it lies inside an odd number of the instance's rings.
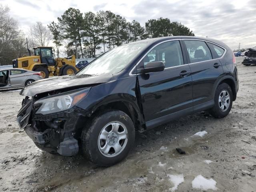
[{"label": "crumpled black hood of the SUV above its headlight", "polygon": [[39,93],[59,90],[75,86],[90,86],[90,84],[99,84],[110,82],[112,74],[103,74],[99,76],[88,75],[66,75],[60,77],[53,77],[36,81],[24,87],[20,91],[20,95],[34,96]]}]

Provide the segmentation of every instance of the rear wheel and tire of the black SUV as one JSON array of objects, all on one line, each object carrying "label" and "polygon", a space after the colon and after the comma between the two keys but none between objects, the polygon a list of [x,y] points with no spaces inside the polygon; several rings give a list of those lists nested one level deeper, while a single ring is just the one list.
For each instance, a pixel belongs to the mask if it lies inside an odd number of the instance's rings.
[{"label": "rear wheel and tire of the black SUV", "polygon": [[233,92],[231,87],[222,83],[218,86],[214,95],[214,106],[209,113],[215,118],[223,118],[227,116],[232,108]]}]

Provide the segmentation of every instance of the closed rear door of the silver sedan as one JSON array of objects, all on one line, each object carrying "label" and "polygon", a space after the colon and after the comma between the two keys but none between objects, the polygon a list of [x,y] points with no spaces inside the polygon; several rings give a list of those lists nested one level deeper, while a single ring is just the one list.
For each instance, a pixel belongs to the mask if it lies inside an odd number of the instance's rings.
[{"label": "closed rear door of the silver sedan", "polygon": [[12,87],[22,87],[27,79],[25,70],[10,70],[10,82]]}]

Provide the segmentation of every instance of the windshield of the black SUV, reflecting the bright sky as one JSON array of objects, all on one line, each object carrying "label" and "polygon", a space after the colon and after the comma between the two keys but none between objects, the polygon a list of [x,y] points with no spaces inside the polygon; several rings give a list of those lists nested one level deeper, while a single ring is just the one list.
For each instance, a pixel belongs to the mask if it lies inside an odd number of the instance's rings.
[{"label": "windshield of the black SUV, reflecting the bright sky", "polygon": [[122,71],[133,58],[147,46],[147,42],[136,42],[116,47],[90,62],[77,75],[115,74]]}]

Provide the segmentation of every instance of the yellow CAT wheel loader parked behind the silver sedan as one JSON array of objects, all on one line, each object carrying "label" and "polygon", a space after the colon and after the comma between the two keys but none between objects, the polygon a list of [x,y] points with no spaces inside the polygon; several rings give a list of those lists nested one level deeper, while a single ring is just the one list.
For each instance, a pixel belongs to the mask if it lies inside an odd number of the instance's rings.
[{"label": "yellow CAT wheel loader parked behind the silver sedan", "polygon": [[41,72],[43,78],[71,75],[78,71],[74,55],[67,58],[54,59],[52,56],[52,47],[36,47],[34,48],[34,56],[14,59],[12,60],[12,65],[13,68]]}]

